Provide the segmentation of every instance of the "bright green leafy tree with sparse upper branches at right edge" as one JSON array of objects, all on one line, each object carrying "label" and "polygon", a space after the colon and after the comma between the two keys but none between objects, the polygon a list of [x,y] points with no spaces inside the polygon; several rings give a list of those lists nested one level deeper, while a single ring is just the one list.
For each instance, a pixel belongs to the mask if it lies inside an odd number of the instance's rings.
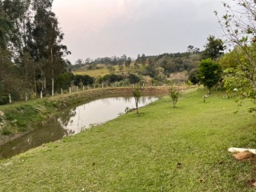
[{"label": "bright green leafy tree with sparse upper branches at right edge", "polygon": [[254,111],[256,110],[255,1],[236,0],[234,4],[236,9],[233,9],[234,5],[230,6],[223,2],[226,14],[221,18],[218,17],[217,12],[215,13],[226,34],[227,41],[235,47],[230,55],[226,56],[228,62],[225,59],[222,62],[226,69],[224,82],[228,91],[235,89],[238,90],[236,92],[240,98],[251,98],[254,106],[250,108],[250,111]]}]

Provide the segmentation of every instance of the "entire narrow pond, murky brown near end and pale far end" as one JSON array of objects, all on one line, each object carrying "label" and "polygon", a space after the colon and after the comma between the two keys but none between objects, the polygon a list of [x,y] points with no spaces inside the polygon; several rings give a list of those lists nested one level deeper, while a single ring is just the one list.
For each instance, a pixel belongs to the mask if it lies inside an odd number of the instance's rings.
[{"label": "entire narrow pond, murky brown near end and pale far end", "polygon": [[[138,106],[146,106],[156,100],[158,100],[158,97],[142,96],[139,99]],[[118,115],[124,114],[126,107],[135,108],[134,98],[100,98],[71,110],[63,110],[61,115],[54,116],[46,125],[0,146],[0,159],[10,158],[31,148],[41,146],[43,143],[54,142],[66,136],[78,134],[82,130],[90,129],[92,126],[110,121],[117,118]]]}]

